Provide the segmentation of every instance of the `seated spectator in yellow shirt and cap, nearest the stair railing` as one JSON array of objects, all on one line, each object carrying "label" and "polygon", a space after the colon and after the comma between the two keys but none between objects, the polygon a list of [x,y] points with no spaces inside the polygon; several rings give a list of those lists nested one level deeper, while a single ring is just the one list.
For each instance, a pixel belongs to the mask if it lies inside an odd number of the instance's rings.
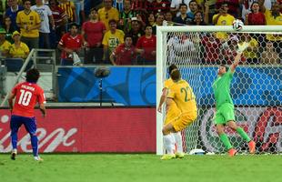
[{"label": "seated spectator in yellow shirt and cap, nearest the stair railing", "polygon": [[29,48],[25,43],[21,42],[21,35],[19,32],[15,31],[12,35],[14,39],[14,44],[10,48],[10,56],[13,58],[26,58],[29,54]]}]

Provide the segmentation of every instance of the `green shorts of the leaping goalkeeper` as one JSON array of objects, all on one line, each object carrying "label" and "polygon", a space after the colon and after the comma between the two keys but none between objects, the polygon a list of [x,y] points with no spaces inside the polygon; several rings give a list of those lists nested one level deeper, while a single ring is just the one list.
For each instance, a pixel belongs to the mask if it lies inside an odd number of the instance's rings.
[{"label": "green shorts of the leaping goalkeeper", "polygon": [[235,121],[234,106],[225,103],[217,109],[215,123],[224,125],[231,120]]}]

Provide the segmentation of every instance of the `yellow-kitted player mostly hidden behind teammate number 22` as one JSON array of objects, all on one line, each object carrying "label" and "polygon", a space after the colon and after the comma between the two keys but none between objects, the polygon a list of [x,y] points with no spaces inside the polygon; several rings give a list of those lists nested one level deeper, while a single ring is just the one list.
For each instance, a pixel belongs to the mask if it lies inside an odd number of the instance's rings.
[{"label": "yellow-kitted player mostly hidden behind teammate number 22", "polygon": [[[171,71],[177,69],[176,65],[171,65],[168,68],[168,74],[170,75]],[[167,93],[168,93],[168,88],[174,84],[174,81],[169,78],[165,81],[165,86],[163,88],[163,93],[162,96],[160,97],[160,102],[159,103],[164,103],[166,101],[166,118],[164,125],[166,126],[168,122],[171,122],[173,119],[175,119],[177,116],[180,115],[181,111],[176,105],[176,102],[171,99],[167,98]],[[162,101],[164,100],[164,101]],[[158,106],[158,111],[162,112],[162,106]],[[182,145],[182,136],[181,132],[176,132],[176,133],[171,133],[169,134],[171,137],[173,137],[173,143],[176,145],[176,157],[178,158],[183,158],[183,145]]]}]

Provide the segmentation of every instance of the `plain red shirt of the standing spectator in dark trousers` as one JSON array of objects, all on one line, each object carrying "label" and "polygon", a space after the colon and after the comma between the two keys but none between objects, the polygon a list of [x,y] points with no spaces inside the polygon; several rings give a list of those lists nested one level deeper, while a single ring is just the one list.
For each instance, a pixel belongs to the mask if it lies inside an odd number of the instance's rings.
[{"label": "plain red shirt of the standing spectator in dark trousers", "polygon": [[90,47],[96,46],[97,43],[102,43],[103,32],[106,31],[106,25],[103,22],[93,23],[88,21],[82,25],[82,29],[86,33],[86,42]]}]

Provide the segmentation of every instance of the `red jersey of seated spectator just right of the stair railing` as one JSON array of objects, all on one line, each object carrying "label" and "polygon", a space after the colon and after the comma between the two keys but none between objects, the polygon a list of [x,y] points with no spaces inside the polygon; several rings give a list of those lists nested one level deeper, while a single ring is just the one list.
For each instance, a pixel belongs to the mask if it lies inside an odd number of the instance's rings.
[{"label": "red jersey of seated spectator just right of the stair railing", "polygon": [[[69,48],[72,50],[77,50],[82,47],[82,35],[72,36],[69,33],[66,33],[62,36],[59,44],[65,48]],[[61,58],[65,59],[68,58],[65,51],[62,51]]]}]

